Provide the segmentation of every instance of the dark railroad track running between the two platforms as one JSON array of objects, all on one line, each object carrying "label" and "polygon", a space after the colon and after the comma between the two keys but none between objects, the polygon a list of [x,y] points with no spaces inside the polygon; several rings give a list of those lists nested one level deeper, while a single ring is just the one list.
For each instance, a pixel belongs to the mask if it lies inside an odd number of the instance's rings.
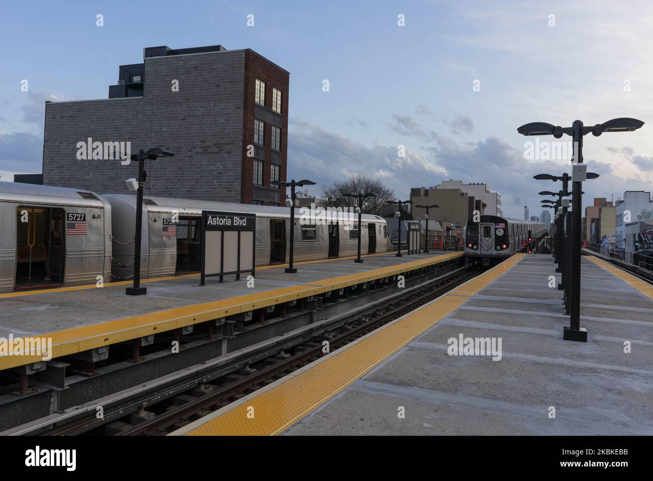
[{"label": "dark railroad track running between the two platforms", "polygon": [[[334,352],[372,331],[408,314],[422,305],[436,299],[447,291],[477,276],[479,271],[470,267],[460,267],[455,271],[445,274],[437,280],[431,280],[411,289],[402,297],[390,299],[386,302],[379,302],[369,310],[347,316],[325,327],[323,333],[318,337],[311,336],[310,339],[300,340],[293,347],[285,352],[261,358],[254,356],[249,361],[240,359],[238,365],[244,368],[238,371],[238,367],[232,367],[231,372],[216,376],[210,382],[202,379],[190,379],[185,381],[187,388],[180,391],[180,388],[167,386],[161,391],[150,393],[148,399],[138,399],[136,414],[141,418],[147,418],[144,422],[132,424],[127,422],[129,415],[123,416],[125,421],[120,421],[118,429],[114,429],[114,435],[166,435],[183,425],[202,418],[214,410],[229,405],[229,403],[244,397],[300,367],[307,365],[323,354],[323,341],[329,343],[329,352]],[[289,344],[293,341],[289,340]],[[237,373],[234,373],[234,369]],[[225,371],[225,367],[221,368]],[[204,374],[203,379],[210,378]],[[183,383],[178,383],[182,385]],[[188,388],[188,386],[192,386]],[[173,396],[166,395],[175,391]],[[116,419],[121,410],[131,412],[135,403],[121,403],[112,408],[112,418]],[[131,410],[129,410],[131,407]],[[147,411],[145,410],[147,408]],[[106,422],[93,418],[84,418],[61,427],[54,427],[46,431],[45,435],[76,435],[80,433],[102,434],[93,432],[103,429]],[[105,429],[106,431],[106,429]]]}]

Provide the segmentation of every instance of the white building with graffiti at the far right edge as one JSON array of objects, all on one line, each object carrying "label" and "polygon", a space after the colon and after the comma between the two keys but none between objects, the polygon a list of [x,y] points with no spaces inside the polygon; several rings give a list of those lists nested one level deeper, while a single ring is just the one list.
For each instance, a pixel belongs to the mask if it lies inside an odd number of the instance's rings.
[{"label": "white building with graffiti at the far right edge", "polygon": [[640,222],[653,224],[653,201],[650,192],[626,191],[624,199],[616,201],[617,246],[628,252],[634,252],[635,239],[637,239],[637,233],[641,231]]}]

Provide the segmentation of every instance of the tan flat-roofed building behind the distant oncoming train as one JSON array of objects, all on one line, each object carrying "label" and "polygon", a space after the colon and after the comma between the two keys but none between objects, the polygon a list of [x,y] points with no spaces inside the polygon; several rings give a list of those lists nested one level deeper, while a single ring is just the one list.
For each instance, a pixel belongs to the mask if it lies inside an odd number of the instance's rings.
[{"label": "tan flat-roofed building behind the distant oncoming train", "polygon": [[481,212],[481,215],[487,214],[485,202],[460,189],[413,188],[410,190],[410,200],[413,201],[413,219],[423,219],[426,214],[426,209],[415,207],[416,205],[439,205],[429,210],[429,219],[461,227],[467,224],[474,210]]}]

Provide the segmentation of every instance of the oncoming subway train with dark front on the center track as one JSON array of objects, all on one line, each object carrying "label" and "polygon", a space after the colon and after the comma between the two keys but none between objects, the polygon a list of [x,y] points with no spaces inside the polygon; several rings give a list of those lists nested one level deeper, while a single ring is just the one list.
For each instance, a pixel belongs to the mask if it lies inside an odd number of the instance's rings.
[{"label": "oncoming subway train with dark front on the center track", "polygon": [[479,222],[467,221],[465,257],[473,263],[494,265],[517,252],[522,252],[522,240],[537,242],[549,237],[549,229],[541,222],[481,216]]}]

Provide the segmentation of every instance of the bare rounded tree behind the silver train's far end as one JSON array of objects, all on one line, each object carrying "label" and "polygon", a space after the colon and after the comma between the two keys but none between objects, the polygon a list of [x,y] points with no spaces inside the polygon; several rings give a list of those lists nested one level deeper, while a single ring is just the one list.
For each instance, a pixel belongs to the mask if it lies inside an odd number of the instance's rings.
[{"label": "bare rounded tree behind the silver train's far end", "polygon": [[345,180],[336,180],[330,186],[323,188],[322,192],[327,199],[328,207],[357,207],[357,199],[344,197],[344,193],[375,193],[377,197],[370,197],[364,201],[362,212],[377,216],[383,216],[388,207],[392,210],[392,206],[388,206],[386,201],[396,200],[392,189],[387,188],[381,180],[366,174],[356,174]]}]

